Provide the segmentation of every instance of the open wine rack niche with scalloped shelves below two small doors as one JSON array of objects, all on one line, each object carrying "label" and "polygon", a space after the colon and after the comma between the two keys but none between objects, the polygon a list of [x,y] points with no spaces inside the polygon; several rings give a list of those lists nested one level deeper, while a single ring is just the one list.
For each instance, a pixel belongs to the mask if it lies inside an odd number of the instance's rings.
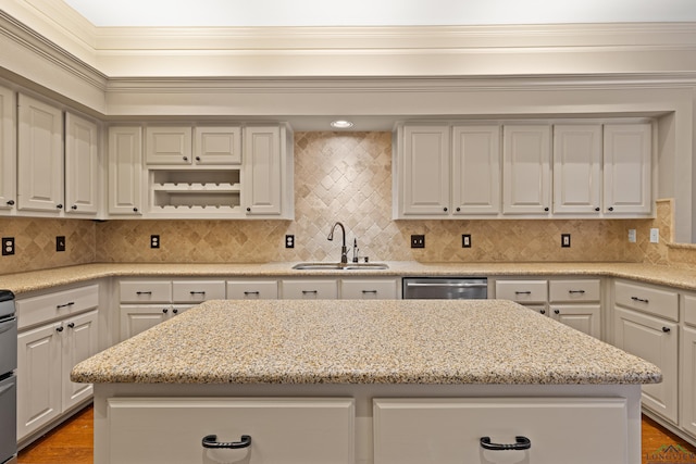
[{"label": "open wine rack niche with scalloped shelves below two small doors", "polygon": [[150,170],[150,214],[240,216],[240,168]]}]

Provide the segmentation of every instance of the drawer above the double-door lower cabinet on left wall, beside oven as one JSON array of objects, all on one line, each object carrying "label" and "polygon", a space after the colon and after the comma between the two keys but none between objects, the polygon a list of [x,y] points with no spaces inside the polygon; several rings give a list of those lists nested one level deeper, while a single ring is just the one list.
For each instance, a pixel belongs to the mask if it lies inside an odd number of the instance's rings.
[{"label": "drawer above the double-door lower cabinet on left wall, beside oven", "polygon": [[55,291],[16,301],[17,328],[63,317],[99,306],[99,286]]}]

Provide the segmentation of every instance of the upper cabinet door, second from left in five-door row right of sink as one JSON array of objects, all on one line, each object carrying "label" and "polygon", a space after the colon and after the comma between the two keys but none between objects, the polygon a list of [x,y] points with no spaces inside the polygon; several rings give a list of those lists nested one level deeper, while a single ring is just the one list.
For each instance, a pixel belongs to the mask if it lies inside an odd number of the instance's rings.
[{"label": "upper cabinet door, second from left in five-door row right of sink", "polygon": [[500,127],[456,126],[452,214],[500,212]]}]

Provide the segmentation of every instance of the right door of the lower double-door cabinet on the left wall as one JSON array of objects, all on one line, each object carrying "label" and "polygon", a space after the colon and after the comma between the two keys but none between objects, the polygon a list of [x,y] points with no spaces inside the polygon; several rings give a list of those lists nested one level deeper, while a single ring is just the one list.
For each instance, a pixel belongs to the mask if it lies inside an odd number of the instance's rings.
[{"label": "right door of the lower double-door cabinet on the left wall", "polygon": [[70,380],[70,372],[78,363],[97,353],[98,347],[97,311],[72,316],[65,319],[62,338],[63,411],[74,406],[92,394],[91,384],[76,384]]}]

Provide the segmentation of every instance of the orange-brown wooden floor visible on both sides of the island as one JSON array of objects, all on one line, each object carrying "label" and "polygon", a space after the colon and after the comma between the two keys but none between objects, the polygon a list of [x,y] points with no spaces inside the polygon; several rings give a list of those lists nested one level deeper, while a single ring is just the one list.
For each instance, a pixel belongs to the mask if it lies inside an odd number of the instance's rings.
[{"label": "orange-brown wooden floor visible on both sides of the island", "polygon": [[[20,452],[18,464],[92,464],[94,410],[86,407],[73,418],[35,441]],[[679,444],[688,453],[696,448],[643,416],[643,464],[656,464],[661,460],[659,450],[664,446]],[[670,461],[671,462],[671,461]],[[680,463],[692,463],[691,459]]]}]

